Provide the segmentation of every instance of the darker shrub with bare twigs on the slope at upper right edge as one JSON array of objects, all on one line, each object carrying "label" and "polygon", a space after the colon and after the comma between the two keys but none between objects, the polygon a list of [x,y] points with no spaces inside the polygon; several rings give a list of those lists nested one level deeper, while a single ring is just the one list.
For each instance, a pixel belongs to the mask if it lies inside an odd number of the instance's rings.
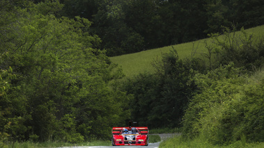
[{"label": "darker shrub with bare twigs on the slope at upper right edge", "polygon": [[223,38],[219,34],[212,35],[212,53],[220,64],[235,63],[236,67],[245,67],[252,71],[264,63],[264,37],[256,38],[253,34],[246,33],[244,28],[240,32],[224,28]]}]

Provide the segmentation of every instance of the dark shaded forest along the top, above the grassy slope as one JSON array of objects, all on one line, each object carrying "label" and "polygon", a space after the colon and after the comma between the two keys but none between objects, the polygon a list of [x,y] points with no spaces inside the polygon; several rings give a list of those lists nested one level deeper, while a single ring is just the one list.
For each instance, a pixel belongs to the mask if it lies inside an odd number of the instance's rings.
[{"label": "dark shaded forest along the top, above the grassy slope", "polygon": [[93,22],[108,56],[206,38],[222,26],[264,24],[262,0],[61,0],[61,15]]}]

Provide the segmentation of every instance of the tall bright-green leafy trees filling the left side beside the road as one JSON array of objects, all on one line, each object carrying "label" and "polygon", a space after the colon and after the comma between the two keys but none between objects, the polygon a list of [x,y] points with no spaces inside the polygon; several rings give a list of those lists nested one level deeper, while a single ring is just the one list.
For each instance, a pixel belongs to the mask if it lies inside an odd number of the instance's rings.
[{"label": "tall bright-green leafy trees filling the left side beside the road", "polygon": [[91,22],[56,17],[58,1],[0,3],[0,141],[109,138],[130,98],[109,88],[122,75]]}]

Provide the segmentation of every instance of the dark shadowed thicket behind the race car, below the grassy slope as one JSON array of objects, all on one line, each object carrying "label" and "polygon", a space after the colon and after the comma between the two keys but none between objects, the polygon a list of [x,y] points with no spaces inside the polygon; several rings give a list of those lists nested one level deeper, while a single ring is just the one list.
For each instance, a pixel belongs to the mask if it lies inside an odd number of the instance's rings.
[{"label": "dark shadowed thicket behind the race car, below the grassy slope", "polygon": [[127,79],[121,90],[133,94],[132,119],[150,128],[179,126],[196,85],[192,77],[205,65],[200,59],[180,60],[177,51],[155,60],[155,74],[142,73]]}]

